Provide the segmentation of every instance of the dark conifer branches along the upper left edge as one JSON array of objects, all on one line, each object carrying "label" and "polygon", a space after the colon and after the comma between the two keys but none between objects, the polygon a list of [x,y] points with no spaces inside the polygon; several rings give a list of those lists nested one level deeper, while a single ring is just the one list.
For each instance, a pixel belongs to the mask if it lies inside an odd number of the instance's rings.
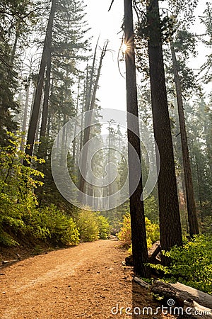
[{"label": "dark conifer branches along the upper left edge", "polygon": [[[31,12],[30,11],[34,11]],[[15,94],[23,62],[23,46],[35,21],[35,4],[30,0],[0,2],[0,144],[7,144],[6,131],[15,132],[18,123],[14,116],[19,113],[19,103]],[[20,72],[20,73],[19,73]]]}]

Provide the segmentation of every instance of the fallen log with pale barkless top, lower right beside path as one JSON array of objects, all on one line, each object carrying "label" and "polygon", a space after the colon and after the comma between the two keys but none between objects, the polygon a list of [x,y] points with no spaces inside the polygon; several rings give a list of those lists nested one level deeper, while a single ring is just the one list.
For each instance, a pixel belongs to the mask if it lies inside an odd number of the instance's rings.
[{"label": "fallen log with pale barkless top, lower right beside path", "polygon": [[172,298],[179,306],[184,306],[185,300],[195,301],[199,305],[212,309],[212,296],[184,284],[167,284],[163,281],[155,281],[152,292],[166,299]]}]

